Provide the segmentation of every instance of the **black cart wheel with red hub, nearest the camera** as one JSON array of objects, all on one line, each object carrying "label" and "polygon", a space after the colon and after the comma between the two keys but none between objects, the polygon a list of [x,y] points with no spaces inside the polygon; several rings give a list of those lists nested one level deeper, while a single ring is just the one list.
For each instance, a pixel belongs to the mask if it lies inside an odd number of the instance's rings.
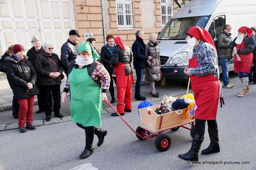
[{"label": "black cart wheel with red hub, nearest the camera", "polygon": [[155,140],[155,147],[161,151],[164,152],[169,149],[171,146],[171,138],[166,135],[165,133],[161,133],[160,135],[157,136]]}]

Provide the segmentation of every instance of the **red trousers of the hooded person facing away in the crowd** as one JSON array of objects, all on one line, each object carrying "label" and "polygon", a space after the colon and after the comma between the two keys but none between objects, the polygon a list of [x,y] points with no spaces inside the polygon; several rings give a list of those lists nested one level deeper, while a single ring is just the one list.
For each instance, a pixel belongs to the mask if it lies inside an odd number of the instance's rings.
[{"label": "red trousers of the hooded person facing away in the crowd", "polygon": [[[117,79],[116,79],[117,81]],[[125,76],[125,87],[119,88],[118,83],[116,85],[117,88],[117,93],[116,93],[116,98],[117,98],[117,105],[116,105],[116,111],[118,113],[125,113],[124,109],[131,109],[131,99],[132,99],[132,90],[131,90],[131,82],[132,78],[131,75]],[[124,105],[125,101],[125,105]]]}]

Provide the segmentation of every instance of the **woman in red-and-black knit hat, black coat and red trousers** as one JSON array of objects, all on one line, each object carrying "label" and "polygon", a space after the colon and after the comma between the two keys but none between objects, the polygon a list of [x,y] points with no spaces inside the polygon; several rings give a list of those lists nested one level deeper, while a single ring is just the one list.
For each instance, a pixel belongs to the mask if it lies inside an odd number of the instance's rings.
[{"label": "woman in red-and-black knit hat, black coat and red trousers", "polygon": [[[24,56],[25,49],[20,44],[13,46],[13,55],[7,57],[7,79],[12,88],[13,98],[17,99],[19,109],[19,131],[35,130],[33,123],[34,97],[39,94],[35,85],[37,74],[32,63]],[[26,120],[26,122],[25,122]],[[25,129],[26,123],[26,129]]]}]

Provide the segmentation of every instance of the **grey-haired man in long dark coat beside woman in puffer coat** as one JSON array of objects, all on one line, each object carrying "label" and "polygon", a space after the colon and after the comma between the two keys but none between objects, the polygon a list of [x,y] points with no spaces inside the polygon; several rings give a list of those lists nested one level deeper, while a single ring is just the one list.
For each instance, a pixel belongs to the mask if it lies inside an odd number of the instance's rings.
[{"label": "grey-haired man in long dark coat beside woman in puffer coat", "polygon": [[134,69],[136,70],[137,81],[135,85],[135,99],[136,100],[145,100],[146,98],[140,95],[140,86],[142,84],[144,69],[146,67],[147,60],[150,60],[152,57],[147,56],[145,49],[146,45],[143,42],[144,32],[141,30],[136,31],[135,33],[136,40],[134,41],[131,50],[134,56]]}]

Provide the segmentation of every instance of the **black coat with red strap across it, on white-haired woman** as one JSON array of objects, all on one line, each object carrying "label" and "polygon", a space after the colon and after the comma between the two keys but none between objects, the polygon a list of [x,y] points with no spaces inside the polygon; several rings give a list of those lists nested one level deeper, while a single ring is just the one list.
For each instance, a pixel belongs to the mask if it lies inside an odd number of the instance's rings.
[{"label": "black coat with red strap across it, on white-haired woman", "polygon": [[[58,67],[47,57],[50,57]],[[38,74],[38,85],[61,84],[61,75],[57,78],[49,77],[50,73],[60,72],[62,74],[63,72],[61,60],[57,54],[52,53],[52,56],[49,56],[45,52],[39,54],[35,60],[35,69]]]}]

